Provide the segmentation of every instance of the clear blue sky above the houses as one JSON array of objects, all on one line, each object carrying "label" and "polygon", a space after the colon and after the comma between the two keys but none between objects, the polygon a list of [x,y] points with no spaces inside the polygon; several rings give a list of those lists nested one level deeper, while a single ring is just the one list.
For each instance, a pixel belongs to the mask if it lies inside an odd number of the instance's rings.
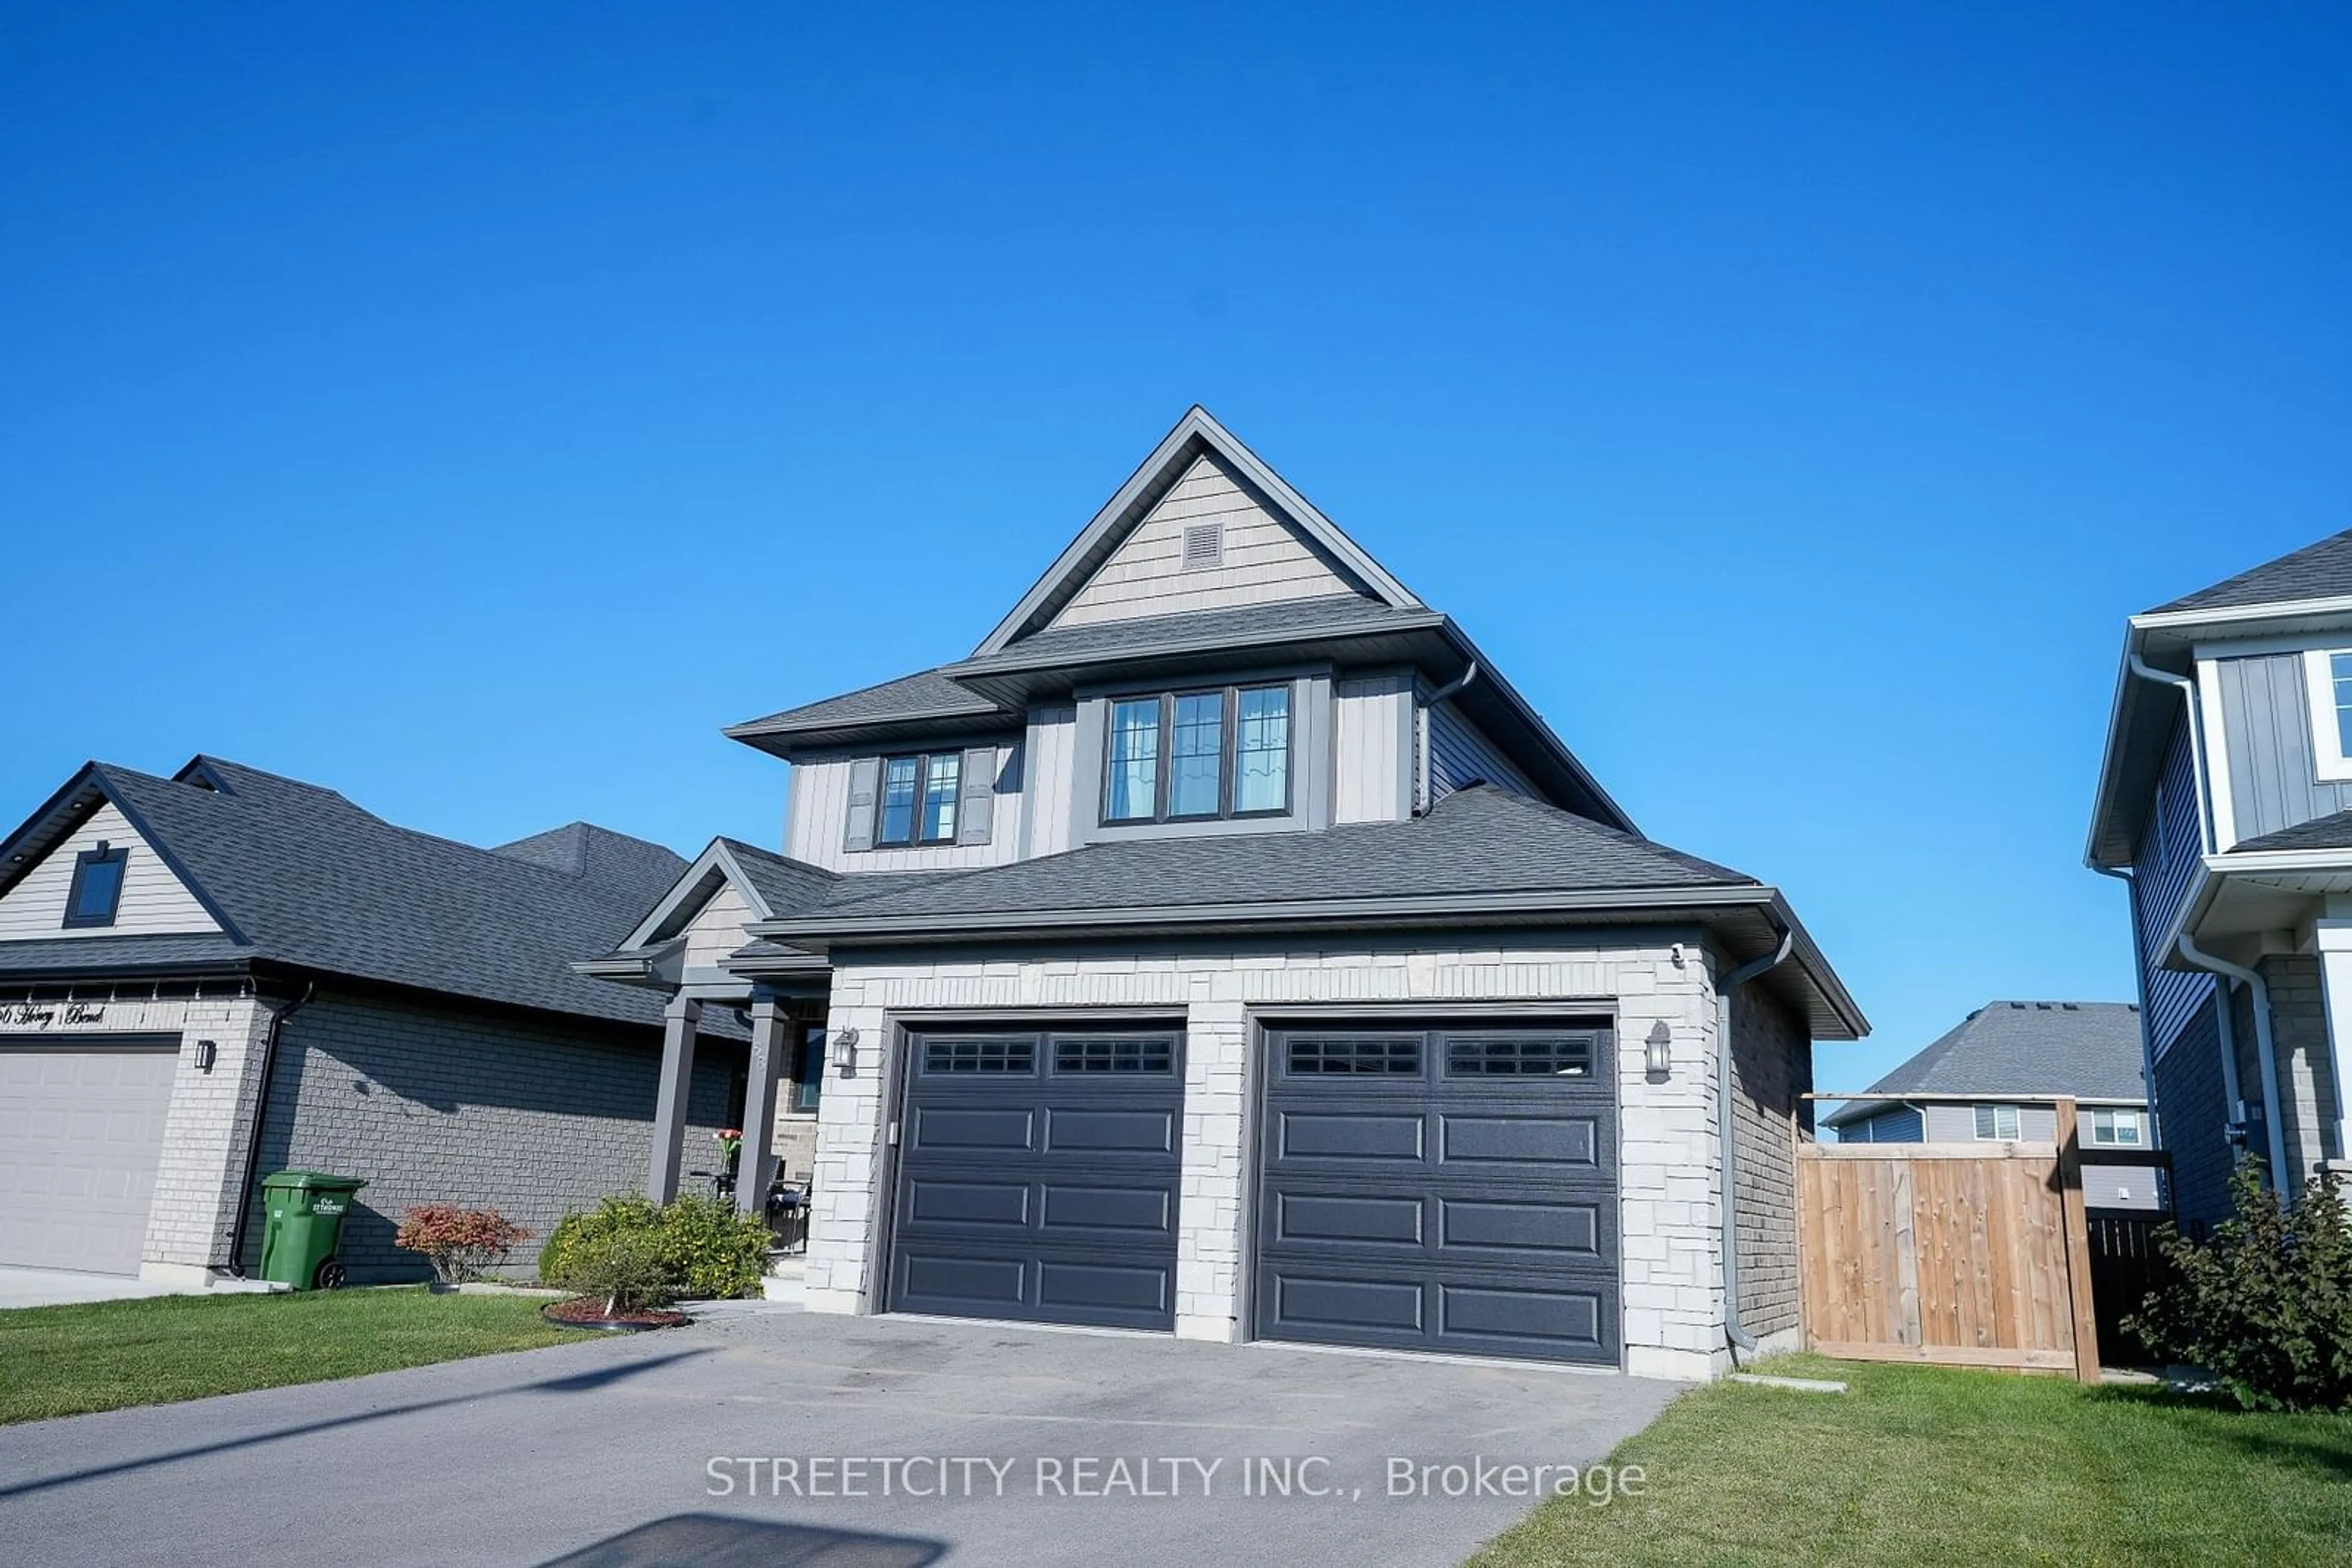
[{"label": "clear blue sky above the houses", "polygon": [[1204,402],[1790,891],[1823,1086],[2126,997],[2122,618],[2352,522],[2345,14],[1263,9],[12,5],[0,813],[771,844],[717,729]]}]

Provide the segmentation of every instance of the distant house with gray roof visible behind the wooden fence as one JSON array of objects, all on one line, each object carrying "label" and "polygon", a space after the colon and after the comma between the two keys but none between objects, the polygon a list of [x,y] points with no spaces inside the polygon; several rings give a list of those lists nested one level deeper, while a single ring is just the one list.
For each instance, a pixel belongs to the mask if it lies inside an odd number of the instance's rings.
[{"label": "distant house with gray roof visible behind the wooden fence", "polygon": [[[2053,1143],[2067,1098],[2086,1147],[2154,1147],[2129,1001],[1987,1001],[1867,1093],[1823,1117],[1839,1143]],[[2154,1161],[2086,1164],[2082,1187],[2089,1208],[2164,1208]]]}]

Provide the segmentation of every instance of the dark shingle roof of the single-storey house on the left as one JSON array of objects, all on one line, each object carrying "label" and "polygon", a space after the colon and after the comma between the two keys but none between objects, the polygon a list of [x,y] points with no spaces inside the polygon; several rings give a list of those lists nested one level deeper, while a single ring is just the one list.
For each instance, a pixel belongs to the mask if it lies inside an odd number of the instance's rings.
[{"label": "dark shingle roof of the single-storey house on the left", "polygon": [[[96,764],[103,785],[245,938],[193,957],[256,957],[515,1006],[659,1023],[647,992],[600,985],[569,961],[628,936],[684,860],[590,823],[477,849],[395,827],[322,790],[219,757],[214,792]],[[160,952],[165,938],[89,938],[94,961]],[[0,969],[42,966],[73,940],[5,943]],[[56,957],[64,957],[56,952]],[[54,964],[49,964],[54,969]]]}]

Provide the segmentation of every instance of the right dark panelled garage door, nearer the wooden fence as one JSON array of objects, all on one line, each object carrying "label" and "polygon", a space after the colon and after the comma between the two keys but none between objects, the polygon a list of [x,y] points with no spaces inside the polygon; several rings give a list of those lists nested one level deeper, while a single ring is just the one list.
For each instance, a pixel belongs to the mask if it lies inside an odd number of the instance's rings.
[{"label": "right dark panelled garage door, nearer the wooden fence", "polygon": [[1277,1030],[1256,1333],[1618,1359],[1606,1023]]}]

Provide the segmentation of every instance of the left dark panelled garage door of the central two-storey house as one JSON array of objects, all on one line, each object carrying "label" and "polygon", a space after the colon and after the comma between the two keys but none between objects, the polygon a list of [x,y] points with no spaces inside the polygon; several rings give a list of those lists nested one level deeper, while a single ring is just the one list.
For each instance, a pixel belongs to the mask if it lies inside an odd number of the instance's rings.
[{"label": "left dark panelled garage door of the central two-storey house", "polygon": [[910,1039],[889,1307],[1176,1326],[1178,1030]]}]

